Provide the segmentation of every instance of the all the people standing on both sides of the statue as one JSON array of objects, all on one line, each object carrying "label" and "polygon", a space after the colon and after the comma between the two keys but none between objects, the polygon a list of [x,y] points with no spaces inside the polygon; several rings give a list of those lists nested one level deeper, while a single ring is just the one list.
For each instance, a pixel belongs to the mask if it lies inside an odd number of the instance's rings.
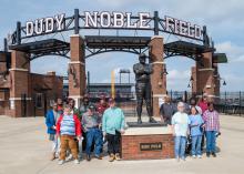
[{"label": "all the people standing on both sides of the statue", "polygon": [[[175,104],[165,96],[160,113],[162,122],[172,127],[176,161],[185,161],[187,150],[192,157],[201,158],[204,144],[206,156],[216,157],[215,142],[220,135],[220,117],[214,103],[206,95],[200,102],[192,98],[190,104]],[[112,98],[108,103],[105,98],[101,98],[98,104],[92,104],[89,96],[84,95],[79,109],[73,99],[67,102],[58,99],[45,115],[45,124],[52,142],[51,160],[59,157],[59,164],[63,164],[67,158],[73,158],[79,164],[83,150],[87,161],[91,161],[92,152],[95,158],[102,160],[105,142],[109,161],[121,158],[120,142],[125,121],[123,111]]]}]

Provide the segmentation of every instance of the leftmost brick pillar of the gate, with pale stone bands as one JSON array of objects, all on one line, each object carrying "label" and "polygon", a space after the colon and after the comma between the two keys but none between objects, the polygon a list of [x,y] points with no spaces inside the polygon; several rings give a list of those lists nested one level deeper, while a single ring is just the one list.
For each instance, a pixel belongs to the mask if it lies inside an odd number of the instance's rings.
[{"label": "leftmost brick pillar of the gate, with pale stone bands", "polygon": [[[11,116],[30,116],[30,62],[29,55],[26,52],[12,51],[11,53],[11,69],[10,69],[10,113]],[[26,94],[26,101],[21,96]],[[26,104],[24,104],[26,103]]]}]

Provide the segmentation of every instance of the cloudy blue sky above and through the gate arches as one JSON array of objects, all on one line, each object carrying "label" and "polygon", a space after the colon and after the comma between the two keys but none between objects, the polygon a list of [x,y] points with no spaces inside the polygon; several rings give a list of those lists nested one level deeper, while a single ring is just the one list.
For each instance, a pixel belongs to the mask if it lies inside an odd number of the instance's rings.
[{"label": "cloudy blue sky above and through the gate arches", "polygon": [[[206,25],[207,32],[215,42],[217,52],[225,52],[227,64],[220,64],[220,73],[227,85],[222,91],[244,90],[244,1],[232,0],[0,0],[0,49],[2,40],[16,28],[16,22],[24,23],[37,18],[52,17],[58,13],[72,16],[73,10],[83,11],[122,11],[150,12],[159,11],[160,17],[174,17],[200,25]],[[69,38],[67,33],[64,38]],[[80,32],[98,34],[98,32]],[[104,34],[104,33],[101,33]],[[115,32],[114,32],[115,34]],[[123,33],[120,33],[123,34]],[[143,34],[143,33],[139,33]],[[164,39],[167,35],[163,35]],[[65,74],[68,61],[64,58],[43,57],[31,62],[31,71],[45,73],[57,71]],[[138,61],[136,55],[129,53],[104,53],[87,60],[87,70],[91,72],[92,82],[110,82],[111,71],[120,68],[132,69]],[[166,60],[167,89],[189,90],[187,83],[191,66],[195,62],[187,58]],[[131,76],[134,79],[133,75]],[[119,81],[119,76],[116,75]],[[128,82],[124,75],[123,82]]]}]

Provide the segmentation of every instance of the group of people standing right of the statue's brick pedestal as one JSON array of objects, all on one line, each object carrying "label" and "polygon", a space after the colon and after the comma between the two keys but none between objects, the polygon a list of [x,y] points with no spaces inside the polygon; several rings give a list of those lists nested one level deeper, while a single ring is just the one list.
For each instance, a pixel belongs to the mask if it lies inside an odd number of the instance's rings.
[{"label": "group of people standing right of the statue's brick pedestal", "polygon": [[204,140],[206,156],[216,157],[216,137],[220,133],[220,117],[214,103],[204,94],[197,103],[192,98],[190,104],[179,102],[176,105],[165,96],[160,109],[161,119],[172,127],[176,161],[185,161],[187,145],[192,157],[201,158]]}]

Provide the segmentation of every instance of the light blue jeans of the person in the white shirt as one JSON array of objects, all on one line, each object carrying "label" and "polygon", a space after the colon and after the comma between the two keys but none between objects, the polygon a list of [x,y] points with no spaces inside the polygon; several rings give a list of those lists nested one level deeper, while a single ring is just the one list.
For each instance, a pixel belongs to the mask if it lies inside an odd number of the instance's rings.
[{"label": "light blue jeans of the person in the white shirt", "polygon": [[175,136],[174,137],[175,158],[177,158],[177,157],[185,158],[185,144],[186,144],[185,136]]}]

